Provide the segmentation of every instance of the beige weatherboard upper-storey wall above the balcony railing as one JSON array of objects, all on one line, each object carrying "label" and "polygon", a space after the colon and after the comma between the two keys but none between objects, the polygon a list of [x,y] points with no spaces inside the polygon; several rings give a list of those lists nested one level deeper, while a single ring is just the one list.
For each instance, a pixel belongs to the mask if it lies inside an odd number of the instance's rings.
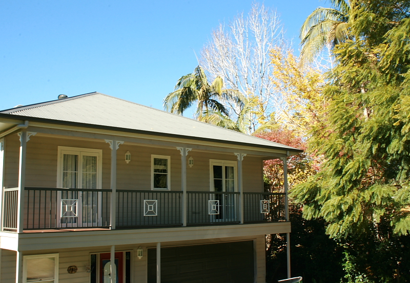
[{"label": "beige weatherboard upper-storey wall above the balcony railing", "polygon": [[[120,138],[119,138],[120,139]],[[6,137],[5,187],[18,186],[19,139],[16,133]],[[26,186],[55,188],[57,185],[58,146],[92,148],[103,150],[102,188],[110,188],[111,149],[99,139],[72,139],[60,136],[37,134],[27,142]],[[131,161],[125,162],[125,153],[130,151]],[[151,155],[171,157],[171,190],[181,190],[181,155],[176,148],[142,146],[125,143],[117,150],[117,189],[151,189]],[[187,189],[210,190],[210,159],[237,161],[230,153],[211,153],[192,150],[188,157],[194,159],[187,166]],[[246,156],[243,159],[243,190],[263,191],[262,158]]]}]

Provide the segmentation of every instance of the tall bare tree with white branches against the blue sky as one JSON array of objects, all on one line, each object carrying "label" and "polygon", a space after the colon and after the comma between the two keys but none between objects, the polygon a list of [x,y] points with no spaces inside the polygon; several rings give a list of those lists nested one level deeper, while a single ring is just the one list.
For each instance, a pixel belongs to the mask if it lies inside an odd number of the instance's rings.
[{"label": "tall bare tree with white branches against the blue sky", "polygon": [[[259,112],[269,120],[270,114],[284,106],[280,94],[274,92],[270,58],[273,47],[281,47],[283,52],[289,49],[279,16],[276,10],[254,3],[248,15],[241,13],[228,25],[221,24],[213,31],[199,61],[211,80],[220,76],[227,88],[239,90],[248,99],[258,97]],[[232,114],[239,115],[240,107],[232,102],[230,105]],[[249,133],[260,125],[261,119],[255,112],[249,114],[254,116],[249,117]]]}]

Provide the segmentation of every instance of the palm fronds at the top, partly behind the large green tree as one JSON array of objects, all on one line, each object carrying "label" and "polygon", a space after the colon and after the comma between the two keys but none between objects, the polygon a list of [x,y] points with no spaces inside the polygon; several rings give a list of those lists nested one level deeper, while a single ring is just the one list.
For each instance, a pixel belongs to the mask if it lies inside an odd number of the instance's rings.
[{"label": "palm fronds at the top, partly behind the large green tree", "polygon": [[348,20],[355,0],[330,0],[332,8],[319,7],[300,29],[301,62],[312,62],[325,46],[330,48],[349,38]]}]

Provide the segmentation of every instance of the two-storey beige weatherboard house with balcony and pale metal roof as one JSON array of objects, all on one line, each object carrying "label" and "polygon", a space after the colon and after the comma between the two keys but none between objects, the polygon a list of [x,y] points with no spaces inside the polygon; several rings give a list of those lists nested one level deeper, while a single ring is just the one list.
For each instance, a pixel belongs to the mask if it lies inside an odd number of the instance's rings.
[{"label": "two-storey beige weatherboard house with balcony and pale metal roof", "polygon": [[300,151],[100,93],[0,111],[0,281],[265,282],[263,160]]}]

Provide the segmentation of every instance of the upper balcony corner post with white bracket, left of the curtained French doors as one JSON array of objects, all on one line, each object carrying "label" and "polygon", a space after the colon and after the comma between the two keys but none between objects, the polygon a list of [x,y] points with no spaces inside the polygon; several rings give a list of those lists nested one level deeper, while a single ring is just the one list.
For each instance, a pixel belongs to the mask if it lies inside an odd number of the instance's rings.
[{"label": "upper balcony corner post with white bracket, left of the curtained French doors", "polygon": [[27,142],[37,133],[22,130],[20,137],[20,156],[18,165],[18,197],[17,197],[17,233],[23,233],[24,226],[24,189],[26,187],[26,151]]}]

